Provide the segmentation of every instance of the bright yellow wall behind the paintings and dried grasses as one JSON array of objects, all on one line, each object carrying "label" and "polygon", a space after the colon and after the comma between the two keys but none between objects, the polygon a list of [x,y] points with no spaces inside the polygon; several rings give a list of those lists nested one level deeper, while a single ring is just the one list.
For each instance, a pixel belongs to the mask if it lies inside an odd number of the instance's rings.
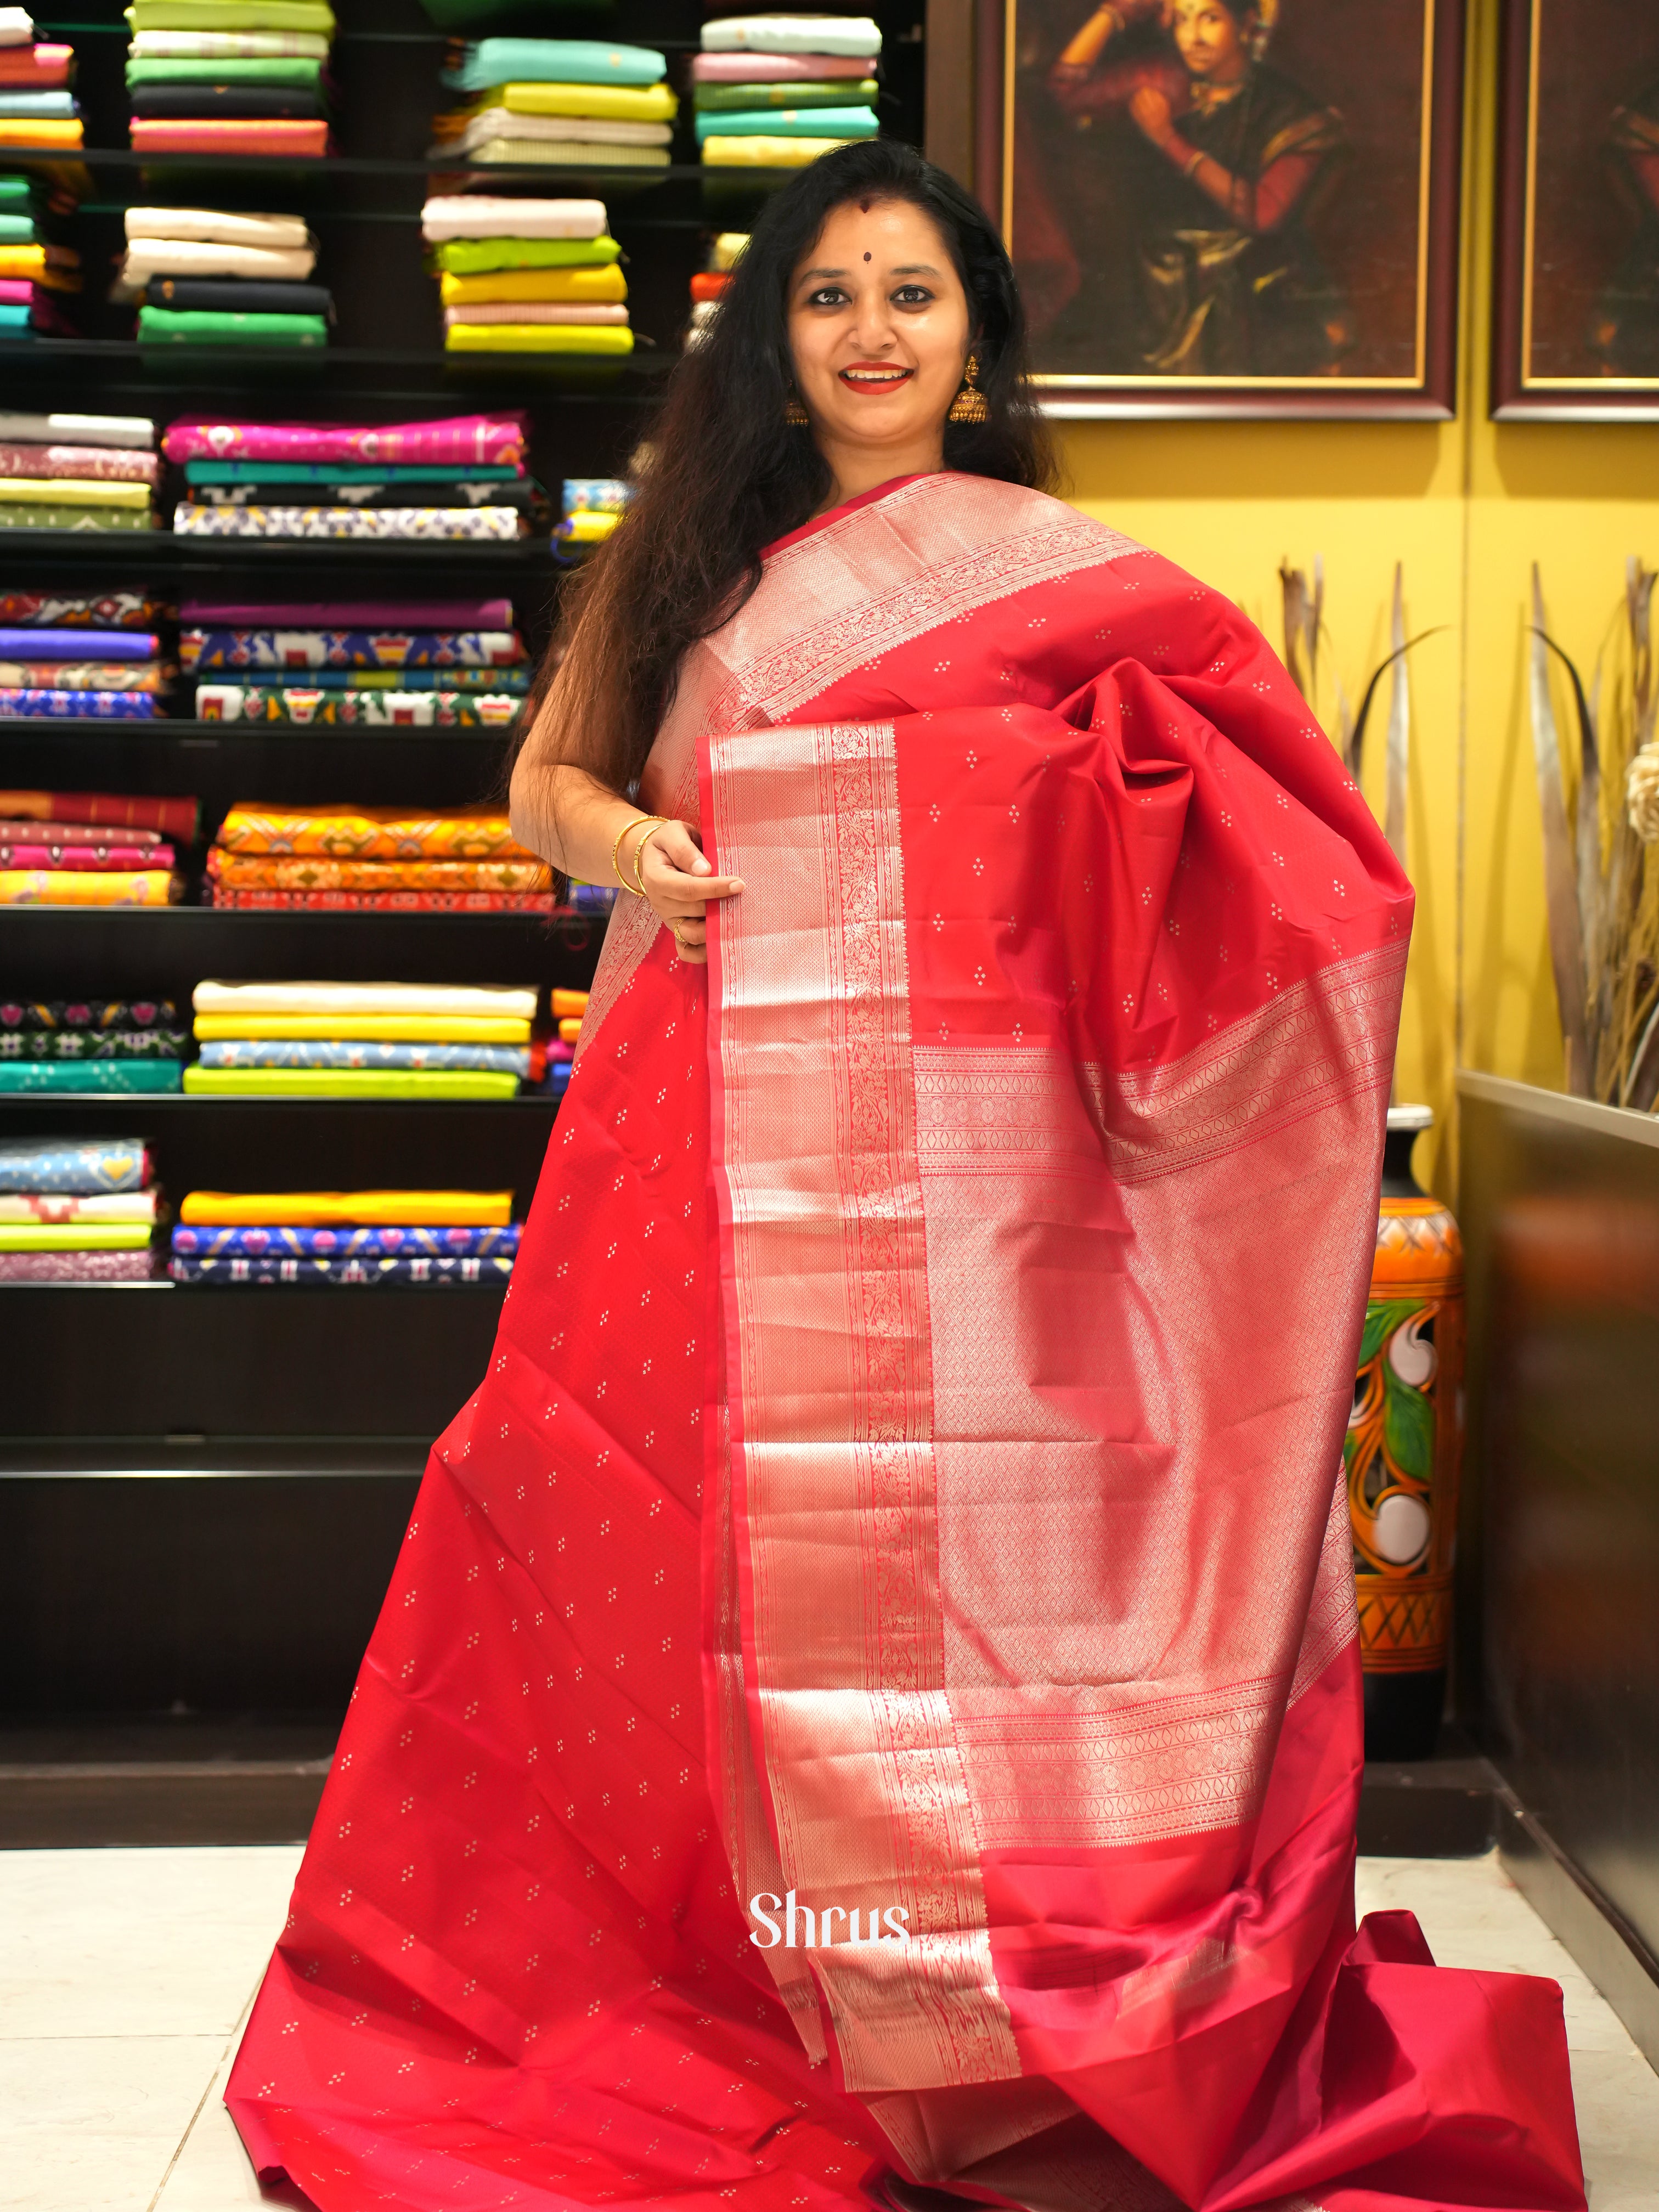
[{"label": "bright yellow wall behind the paintings and dried grasses", "polygon": [[[1077,504],[1230,593],[1274,644],[1281,560],[1312,571],[1323,553],[1349,697],[1387,650],[1396,560],[1407,635],[1444,626],[1411,655],[1418,922],[1398,1095],[1440,1115],[1418,1175],[1449,1197],[1453,1071],[1562,1082],[1526,710],[1531,564],[1542,564],[1553,635],[1586,672],[1626,555],[1659,566],[1659,429],[1486,416],[1495,18],[1498,0],[1471,0],[1455,422],[1062,425]],[[1367,732],[1378,812],[1385,721],[1387,681]]]}]

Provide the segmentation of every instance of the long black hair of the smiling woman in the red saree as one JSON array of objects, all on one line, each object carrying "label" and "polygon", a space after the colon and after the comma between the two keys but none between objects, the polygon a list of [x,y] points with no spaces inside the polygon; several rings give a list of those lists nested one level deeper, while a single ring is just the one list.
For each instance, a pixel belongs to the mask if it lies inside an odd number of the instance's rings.
[{"label": "long black hair of the smiling woman in the red saree", "polygon": [[794,392],[787,296],[827,217],[856,199],[902,199],[931,215],[967,288],[989,418],[947,425],[947,469],[1042,489],[1053,482],[1048,438],[1024,380],[1020,292],[984,210],[900,139],[823,155],[754,226],[703,343],[668,378],[626,520],[566,586],[538,684],[538,695],[549,690],[535,717],[538,752],[551,739],[544,759],[628,790],[686,648],[748,599],[761,580],[761,549],[823,504],[830,469],[812,434],[783,414]]}]

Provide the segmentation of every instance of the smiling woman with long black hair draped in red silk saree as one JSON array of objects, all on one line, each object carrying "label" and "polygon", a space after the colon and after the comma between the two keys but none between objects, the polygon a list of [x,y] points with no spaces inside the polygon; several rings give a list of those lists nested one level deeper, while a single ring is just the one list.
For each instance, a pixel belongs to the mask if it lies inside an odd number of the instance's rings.
[{"label": "smiling woman with long black hair draped in red silk saree", "polygon": [[825,157],[588,571],[513,818],[630,889],[228,2090],[323,2212],[1582,2205],[1559,1991],[1354,1933],[1411,894],[1020,354]]}]

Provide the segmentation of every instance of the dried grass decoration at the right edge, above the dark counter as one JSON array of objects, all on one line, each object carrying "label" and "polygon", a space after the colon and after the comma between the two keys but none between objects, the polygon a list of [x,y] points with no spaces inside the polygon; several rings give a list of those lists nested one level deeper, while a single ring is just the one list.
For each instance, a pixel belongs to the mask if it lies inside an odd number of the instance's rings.
[{"label": "dried grass decoration at the right edge, above the dark counter", "polygon": [[[1533,761],[1544,818],[1544,898],[1566,1088],[1652,1113],[1659,1097],[1659,745],[1652,666],[1655,573],[1626,562],[1624,604],[1586,692],[1548,635],[1533,566]],[[1551,655],[1573,686],[1579,743],[1562,761]]]}]

